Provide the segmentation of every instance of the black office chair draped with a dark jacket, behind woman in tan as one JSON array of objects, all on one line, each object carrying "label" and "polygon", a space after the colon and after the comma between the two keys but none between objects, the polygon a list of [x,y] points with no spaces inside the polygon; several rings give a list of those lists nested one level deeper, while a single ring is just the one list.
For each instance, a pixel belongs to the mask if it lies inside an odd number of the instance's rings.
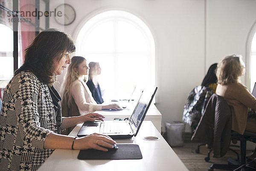
[{"label": "black office chair draped with a dark jacket, behind woman in tan", "polygon": [[[256,133],[245,132],[244,135],[231,131],[231,110],[227,102],[216,94],[213,94],[209,99],[206,110],[195,130],[192,139],[201,138],[202,142],[208,144],[211,148],[208,152],[208,157],[205,158],[209,161],[210,153],[213,151],[214,157],[222,157],[230,149],[230,140],[233,142],[240,141],[240,159],[237,154],[237,160],[228,159],[227,165],[213,164],[209,167],[209,171],[213,169],[234,170],[243,165],[246,161],[246,141],[256,142]],[[218,140],[218,142],[214,142]],[[199,148],[197,149],[199,152]],[[245,166],[246,171],[254,170]]]}]

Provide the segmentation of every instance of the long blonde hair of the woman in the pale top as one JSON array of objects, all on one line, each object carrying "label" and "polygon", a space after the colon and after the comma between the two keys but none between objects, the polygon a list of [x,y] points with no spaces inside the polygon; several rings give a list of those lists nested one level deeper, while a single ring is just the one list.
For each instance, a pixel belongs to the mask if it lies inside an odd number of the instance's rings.
[{"label": "long blonde hair of the woman in the pale top", "polygon": [[62,94],[63,100],[64,99],[67,100],[68,105],[71,104],[71,99],[72,99],[72,95],[71,95],[72,83],[79,79],[79,74],[74,69],[78,68],[79,64],[81,64],[83,61],[86,61],[84,57],[74,56],[71,59],[71,64],[67,68],[67,74],[64,77],[65,81],[62,86],[61,94]]}]

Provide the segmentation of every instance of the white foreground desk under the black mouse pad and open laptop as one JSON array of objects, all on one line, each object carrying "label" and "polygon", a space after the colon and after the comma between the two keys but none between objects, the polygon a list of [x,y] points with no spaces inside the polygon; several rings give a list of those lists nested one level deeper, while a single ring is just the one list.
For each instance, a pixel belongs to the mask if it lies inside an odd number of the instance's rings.
[{"label": "white foreground desk under the black mouse pad and open laptop", "polygon": [[[76,136],[81,125],[77,125],[70,135]],[[143,139],[145,136],[160,139],[147,141]],[[143,121],[136,137],[116,142],[139,145],[143,159],[79,160],[79,150],[55,150],[38,171],[188,171],[151,121]]]}]

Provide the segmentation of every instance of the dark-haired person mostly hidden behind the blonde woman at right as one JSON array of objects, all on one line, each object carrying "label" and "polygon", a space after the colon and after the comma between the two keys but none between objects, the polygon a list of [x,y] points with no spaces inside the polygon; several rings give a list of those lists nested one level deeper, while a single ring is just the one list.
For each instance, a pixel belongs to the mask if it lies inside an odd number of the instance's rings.
[{"label": "dark-haired person mostly hidden behind the blonde woman at right", "polygon": [[202,86],[206,86],[210,89],[212,89],[213,93],[215,93],[216,87],[217,87],[217,77],[216,77],[216,68],[217,68],[217,63],[212,64],[209,67],[209,70],[207,74],[204,77],[204,80],[202,82]]}]

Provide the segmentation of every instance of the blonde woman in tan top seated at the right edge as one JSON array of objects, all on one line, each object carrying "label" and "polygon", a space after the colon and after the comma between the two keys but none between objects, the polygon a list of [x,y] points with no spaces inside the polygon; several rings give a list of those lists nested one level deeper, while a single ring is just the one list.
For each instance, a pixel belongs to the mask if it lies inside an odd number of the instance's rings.
[{"label": "blonde woman in tan top seated at the right edge", "polygon": [[248,108],[256,110],[256,98],[241,83],[245,66],[241,56],[226,56],[217,67],[216,94],[224,97],[231,106],[232,130],[243,134],[244,130],[256,132],[256,119],[247,119]]}]

